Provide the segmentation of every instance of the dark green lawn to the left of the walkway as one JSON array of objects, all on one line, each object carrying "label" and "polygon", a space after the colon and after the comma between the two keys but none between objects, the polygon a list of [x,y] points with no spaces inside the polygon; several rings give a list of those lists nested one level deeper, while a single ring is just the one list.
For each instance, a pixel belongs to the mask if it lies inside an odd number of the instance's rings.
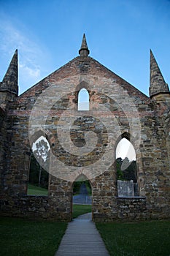
[{"label": "dark green lawn to the left of the walkway", "polygon": [[54,256],[66,226],[62,222],[35,222],[0,217],[0,254]]}]

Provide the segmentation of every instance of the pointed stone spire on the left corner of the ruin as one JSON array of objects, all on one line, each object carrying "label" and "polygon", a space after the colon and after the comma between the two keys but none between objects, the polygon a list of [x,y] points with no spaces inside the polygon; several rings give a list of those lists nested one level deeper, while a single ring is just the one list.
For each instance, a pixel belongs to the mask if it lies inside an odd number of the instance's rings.
[{"label": "pointed stone spire on the left corner of the ruin", "polygon": [[4,75],[0,91],[9,91],[18,95],[18,50],[15,50],[7,72]]}]

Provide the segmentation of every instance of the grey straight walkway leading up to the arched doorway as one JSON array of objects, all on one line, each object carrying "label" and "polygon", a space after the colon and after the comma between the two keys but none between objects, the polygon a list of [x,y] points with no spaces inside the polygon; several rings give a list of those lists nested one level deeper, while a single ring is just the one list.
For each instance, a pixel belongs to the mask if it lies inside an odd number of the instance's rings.
[{"label": "grey straight walkway leading up to the arched doorway", "polygon": [[109,256],[91,214],[69,223],[55,256]]}]

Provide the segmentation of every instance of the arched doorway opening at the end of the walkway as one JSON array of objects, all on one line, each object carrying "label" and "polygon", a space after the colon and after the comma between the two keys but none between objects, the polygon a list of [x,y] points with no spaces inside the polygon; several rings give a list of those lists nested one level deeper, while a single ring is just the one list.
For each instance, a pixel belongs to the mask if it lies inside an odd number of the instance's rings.
[{"label": "arched doorway opening at the end of the walkway", "polygon": [[92,189],[88,180],[79,178],[74,181],[72,202],[73,219],[88,213],[88,218],[92,219]]}]

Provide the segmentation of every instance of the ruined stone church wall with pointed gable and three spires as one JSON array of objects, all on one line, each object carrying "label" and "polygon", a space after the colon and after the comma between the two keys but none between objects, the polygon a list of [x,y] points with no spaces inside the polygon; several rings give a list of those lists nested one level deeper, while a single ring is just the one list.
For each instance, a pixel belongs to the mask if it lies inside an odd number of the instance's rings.
[{"label": "ruined stone church wall with pointed gable and three spires", "polygon": [[[74,182],[84,178],[94,221],[170,218],[170,91],[155,57],[150,51],[147,97],[89,54],[84,35],[79,56],[18,95],[15,51],[0,83],[1,216],[70,221]],[[86,110],[78,108],[82,89]],[[50,145],[48,195],[27,195],[31,148],[41,136]],[[131,181],[117,177],[123,138],[136,152]]]}]

